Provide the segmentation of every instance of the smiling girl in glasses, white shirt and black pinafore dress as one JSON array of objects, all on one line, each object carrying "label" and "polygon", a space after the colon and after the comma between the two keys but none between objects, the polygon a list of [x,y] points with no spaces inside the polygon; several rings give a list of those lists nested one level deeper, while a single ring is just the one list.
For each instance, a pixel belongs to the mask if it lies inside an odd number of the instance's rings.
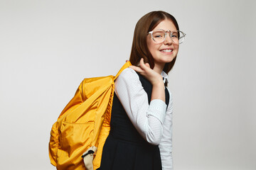
[{"label": "smiling girl in glasses, white shirt and black pinafore dress", "polygon": [[139,19],[129,59],[133,66],[114,83],[111,130],[100,170],[173,169],[167,74],[184,37],[169,13],[153,11]]}]

